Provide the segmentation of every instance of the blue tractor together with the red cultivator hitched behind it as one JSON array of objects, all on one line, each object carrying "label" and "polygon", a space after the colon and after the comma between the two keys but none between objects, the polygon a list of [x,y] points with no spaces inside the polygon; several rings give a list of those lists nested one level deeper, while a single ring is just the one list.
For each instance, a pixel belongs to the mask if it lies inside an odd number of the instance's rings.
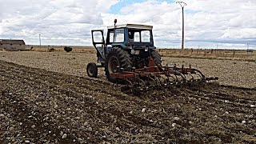
[{"label": "blue tractor together with the red cultivator hitched behind it", "polygon": [[162,66],[161,56],[154,46],[153,26],[116,25],[116,22],[115,19],[114,26],[107,27],[106,41],[103,30],[91,30],[98,65],[88,63],[89,77],[97,78],[98,67],[104,67],[110,82],[125,82],[139,90],[218,79],[206,78],[191,66]]}]

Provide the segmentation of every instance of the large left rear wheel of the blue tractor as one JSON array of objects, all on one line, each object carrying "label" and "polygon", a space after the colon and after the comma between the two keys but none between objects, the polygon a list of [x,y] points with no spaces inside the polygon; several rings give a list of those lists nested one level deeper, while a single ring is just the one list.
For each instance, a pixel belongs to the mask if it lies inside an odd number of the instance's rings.
[{"label": "large left rear wheel of the blue tractor", "polygon": [[106,55],[105,72],[106,78],[110,82],[118,82],[117,78],[111,77],[112,73],[118,73],[118,66],[124,70],[128,70],[128,66],[132,66],[130,54],[126,50],[114,47],[109,54]]}]

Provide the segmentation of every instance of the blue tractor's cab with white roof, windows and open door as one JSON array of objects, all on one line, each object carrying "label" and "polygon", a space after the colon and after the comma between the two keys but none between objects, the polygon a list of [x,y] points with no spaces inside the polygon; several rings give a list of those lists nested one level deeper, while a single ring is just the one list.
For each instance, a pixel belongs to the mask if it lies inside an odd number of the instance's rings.
[{"label": "blue tractor's cab with white roof, windows and open door", "polygon": [[147,53],[148,50],[155,49],[152,28],[153,26],[137,24],[108,26],[106,41],[103,30],[92,30],[98,63],[105,63],[106,55],[114,47],[126,50],[131,55],[140,55],[145,51]]}]

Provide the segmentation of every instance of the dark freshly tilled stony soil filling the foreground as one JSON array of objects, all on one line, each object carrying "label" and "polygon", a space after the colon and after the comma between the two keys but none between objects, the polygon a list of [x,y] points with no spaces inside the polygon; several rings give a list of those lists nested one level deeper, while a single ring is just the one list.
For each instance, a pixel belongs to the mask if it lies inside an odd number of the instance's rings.
[{"label": "dark freshly tilled stony soil filling the foreground", "polygon": [[19,56],[19,63],[2,54],[0,143],[256,142],[255,87],[210,83],[126,94],[103,74],[54,67],[58,59],[35,68],[26,66],[33,57]]}]

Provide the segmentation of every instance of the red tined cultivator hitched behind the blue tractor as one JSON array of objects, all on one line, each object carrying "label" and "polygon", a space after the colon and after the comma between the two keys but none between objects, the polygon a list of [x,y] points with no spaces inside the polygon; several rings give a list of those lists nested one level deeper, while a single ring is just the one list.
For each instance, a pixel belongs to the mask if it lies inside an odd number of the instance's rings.
[{"label": "red tined cultivator hitched behind the blue tractor", "polygon": [[218,80],[218,77],[206,77],[200,70],[191,67],[161,66],[154,63],[153,58],[149,58],[149,65],[141,69],[129,67],[124,70],[117,67],[118,72],[112,73],[111,77],[125,81],[126,86],[122,90],[161,90],[173,86],[184,86],[211,82]]}]

